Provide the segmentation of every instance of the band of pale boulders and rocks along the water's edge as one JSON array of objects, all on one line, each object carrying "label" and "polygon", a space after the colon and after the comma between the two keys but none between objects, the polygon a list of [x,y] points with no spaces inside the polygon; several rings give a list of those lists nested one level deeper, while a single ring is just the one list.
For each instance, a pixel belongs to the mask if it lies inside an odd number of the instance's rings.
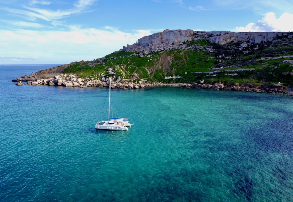
[{"label": "band of pale boulders and rocks along the water's edge", "polygon": [[[35,73],[33,73],[35,75]],[[12,80],[17,82],[16,85],[49,85],[49,86],[65,86],[65,87],[106,87],[109,85],[108,78],[105,75],[101,75],[101,79],[78,78],[74,74],[58,74],[54,77],[36,78],[32,75],[26,75]],[[26,82],[26,83],[23,83]],[[186,84],[186,83],[162,83],[162,82],[147,82],[145,80],[133,81],[130,79],[114,78],[112,82],[112,88],[115,89],[139,89],[155,86],[180,86],[184,88],[198,88],[209,90],[230,90],[230,91],[246,91],[256,93],[278,93],[287,94],[293,96],[292,91],[288,91],[285,86],[281,84],[273,84],[272,86],[253,86],[251,84],[228,84],[223,83],[206,83],[200,81],[200,83]]]}]

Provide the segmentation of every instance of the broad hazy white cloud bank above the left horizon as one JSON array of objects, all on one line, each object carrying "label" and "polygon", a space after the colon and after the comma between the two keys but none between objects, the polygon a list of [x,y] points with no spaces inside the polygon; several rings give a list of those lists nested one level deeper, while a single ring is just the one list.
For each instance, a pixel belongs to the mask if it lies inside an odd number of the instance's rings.
[{"label": "broad hazy white cloud bank above the left horizon", "polygon": [[0,59],[6,64],[21,60],[23,64],[26,61],[52,64],[93,60],[120,50],[127,44],[132,45],[145,35],[151,35],[151,32],[125,32],[111,27],[71,27],[69,31],[0,30],[0,44],[5,50],[0,51]]}]

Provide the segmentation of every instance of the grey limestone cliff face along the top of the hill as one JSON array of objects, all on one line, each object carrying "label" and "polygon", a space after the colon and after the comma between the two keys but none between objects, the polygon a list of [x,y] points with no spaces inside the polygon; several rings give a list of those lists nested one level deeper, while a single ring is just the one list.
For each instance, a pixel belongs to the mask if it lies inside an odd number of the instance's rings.
[{"label": "grey limestone cliff face along the top of the hill", "polygon": [[206,40],[211,43],[227,44],[230,42],[262,43],[275,40],[277,36],[292,38],[292,32],[239,32],[228,31],[193,31],[193,30],[164,30],[144,36],[133,45],[123,47],[123,51],[159,51],[166,49],[188,49],[182,42],[192,40]]}]

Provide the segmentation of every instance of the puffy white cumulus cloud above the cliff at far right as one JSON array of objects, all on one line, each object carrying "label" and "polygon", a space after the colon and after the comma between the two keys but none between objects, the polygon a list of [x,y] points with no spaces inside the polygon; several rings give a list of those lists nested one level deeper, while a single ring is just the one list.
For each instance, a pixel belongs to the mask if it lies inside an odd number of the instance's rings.
[{"label": "puffy white cumulus cloud above the cliff at far right", "polygon": [[238,32],[287,32],[293,31],[293,15],[283,13],[276,18],[275,13],[267,13],[257,23],[248,23],[245,27],[236,27]]}]

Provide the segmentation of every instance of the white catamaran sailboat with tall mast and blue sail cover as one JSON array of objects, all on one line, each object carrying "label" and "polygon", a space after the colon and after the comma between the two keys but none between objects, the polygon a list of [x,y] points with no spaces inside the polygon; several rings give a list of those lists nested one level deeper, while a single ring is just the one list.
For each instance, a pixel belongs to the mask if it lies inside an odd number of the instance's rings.
[{"label": "white catamaran sailboat with tall mast and blue sail cover", "polygon": [[98,121],[96,129],[100,130],[128,130],[127,127],[131,126],[128,122],[128,118],[125,117],[113,117],[110,118],[110,101],[111,101],[111,78],[109,78],[109,105],[108,105],[108,120]]}]

